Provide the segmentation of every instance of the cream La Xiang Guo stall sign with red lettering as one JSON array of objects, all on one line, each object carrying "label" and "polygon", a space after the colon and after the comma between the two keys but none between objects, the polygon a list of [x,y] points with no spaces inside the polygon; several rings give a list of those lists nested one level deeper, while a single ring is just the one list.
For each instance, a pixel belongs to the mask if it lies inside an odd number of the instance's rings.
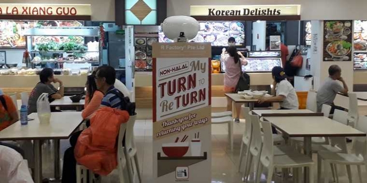
[{"label": "cream La Xiang Guo stall sign with red lettering", "polygon": [[0,15],[91,15],[90,4],[0,3]]}]

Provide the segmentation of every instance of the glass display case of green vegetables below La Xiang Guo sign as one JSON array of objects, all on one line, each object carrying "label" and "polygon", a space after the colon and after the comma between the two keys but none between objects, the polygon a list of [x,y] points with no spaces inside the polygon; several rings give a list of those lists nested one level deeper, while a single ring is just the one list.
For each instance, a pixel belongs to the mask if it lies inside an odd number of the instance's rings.
[{"label": "glass display case of green vegetables below La Xiang Guo sign", "polygon": [[31,28],[24,35],[32,68],[61,69],[64,63],[83,63],[85,68],[85,63],[95,66],[102,62],[99,27],[40,27]]}]

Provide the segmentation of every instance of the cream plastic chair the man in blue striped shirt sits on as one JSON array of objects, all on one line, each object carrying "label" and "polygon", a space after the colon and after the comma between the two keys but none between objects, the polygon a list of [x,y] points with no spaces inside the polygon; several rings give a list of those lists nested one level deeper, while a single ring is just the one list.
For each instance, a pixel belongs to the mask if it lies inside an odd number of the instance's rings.
[{"label": "cream plastic chair the man in blue striped shirt sits on", "polygon": [[[124,149],[122,146],[122,140],[123,137],[125,136],[125,132],[126,132],[126,128],[127,128],[127,124],[132,120],[135,121],[135,116],[130,116],[129,120],[127,121],[127,123],[123,123],[120,125],[120,130],[119,130],[119,141],[118,141],[118,148],[117,148],[117,167],[116,169],[119,172],[119,180],[120,183],[128,183],[128,175],[127,175],[127,169],[126,167],[126,158],[125,158],[125,153],[124,153]],[[76,164],[76,183],[81,183],[81,180],[83,180],[83,183],[87,183],[87,172],[89,170],[84,167],[83,165],[79,165]],[[92,173],[92,171],[89,171],[89,183],[93,183],[93,179],[94,179],[94,174]]]}]

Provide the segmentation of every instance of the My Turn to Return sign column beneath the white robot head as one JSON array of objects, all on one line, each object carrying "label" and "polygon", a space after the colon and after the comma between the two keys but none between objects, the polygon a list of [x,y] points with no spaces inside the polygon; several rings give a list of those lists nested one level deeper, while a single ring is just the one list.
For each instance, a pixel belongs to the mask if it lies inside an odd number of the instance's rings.
[{"label": "My Turn to Return sign column beneath the white robot head", "polygon": [[211,182],[211,45],[153,44],[155,183]]}]

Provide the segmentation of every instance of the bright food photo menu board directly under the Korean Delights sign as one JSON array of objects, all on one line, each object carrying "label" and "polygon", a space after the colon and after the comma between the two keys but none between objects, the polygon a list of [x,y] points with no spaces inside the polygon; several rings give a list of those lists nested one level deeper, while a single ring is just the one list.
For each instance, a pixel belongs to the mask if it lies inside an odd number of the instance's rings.
[{"label": "bright food photo menu board directly under the Korean Delights sign", "polygon": [[[189,42],[211,43],[211,46],[228,46],[228,38],[236,39],[236,46],[245,45],[245,22],[199,21],[200,31]],[[159,43],[173,43],[160,27]]]}]

